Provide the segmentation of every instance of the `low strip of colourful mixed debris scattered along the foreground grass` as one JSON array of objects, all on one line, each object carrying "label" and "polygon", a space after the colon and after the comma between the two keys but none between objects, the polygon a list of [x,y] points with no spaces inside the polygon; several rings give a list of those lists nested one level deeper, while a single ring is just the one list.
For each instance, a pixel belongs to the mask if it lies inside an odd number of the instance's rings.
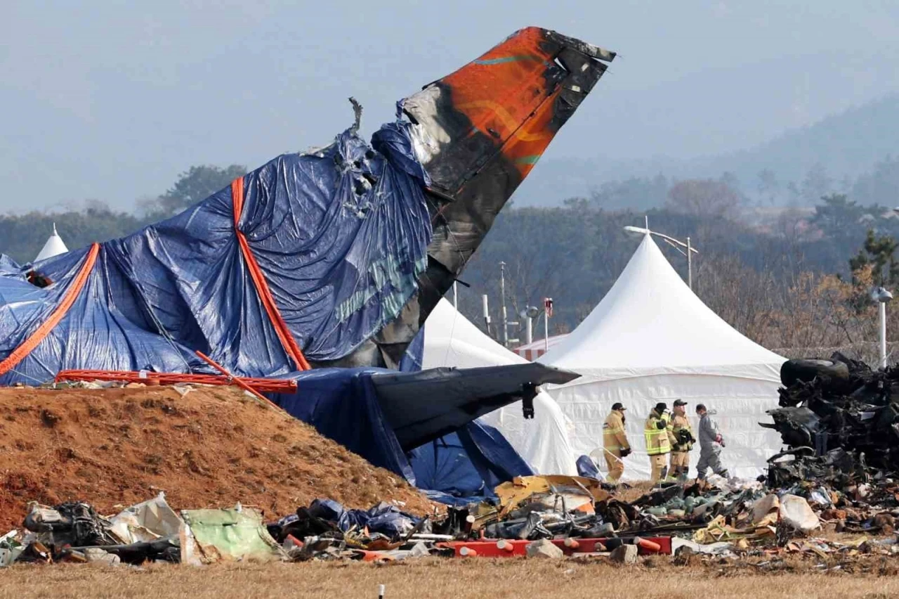
[{"label": "low strip of colourful mixed debris scattered along the foreground grass", "polygon": [[[494,499],[450,507],[445,514],[418,517],[384,503],[347,509],[316,499],[269,523],[242,505],[176,513],[162,494],[109,517],[84,503],[32,504],[23,530],[0,537],[0,566],[386,562],[426,556],[567,556],[628,564],[651,554],[777,559],[797,553],[823,559],[899,553],[895,483],[838,491],[803,481],[771,492],[761,481],[717,478],[715,484],[666,483],[632,502],[616,496],[621,488],[583,477],[521,477],[496,487]],[[822,529],[858,536],[812,536]]]}]

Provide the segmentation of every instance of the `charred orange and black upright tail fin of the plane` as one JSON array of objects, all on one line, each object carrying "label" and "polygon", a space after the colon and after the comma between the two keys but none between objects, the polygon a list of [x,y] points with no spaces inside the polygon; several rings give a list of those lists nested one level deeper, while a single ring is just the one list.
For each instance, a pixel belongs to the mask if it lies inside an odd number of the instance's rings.
[{"label": "charred orange and black upright tail fin of the plane", "polygon": [[399,362],[613,58],[614,52],[530,27],[401,103],[418,125],[416,153],[431,177],[433,238],[418,297],[374,339],[385,365]]}]

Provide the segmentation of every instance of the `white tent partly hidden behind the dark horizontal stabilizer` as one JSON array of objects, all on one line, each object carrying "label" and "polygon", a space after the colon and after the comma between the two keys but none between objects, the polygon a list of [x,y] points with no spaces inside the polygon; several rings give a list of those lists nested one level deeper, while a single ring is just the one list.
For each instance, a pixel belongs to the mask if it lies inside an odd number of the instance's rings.
[{"label": "white tent partly hidden behind the dark horizontal stabilizer", "polygon": [[[424,323],[423,368],[477,368],[527,362],[482,333],[446,299]],[[534,398],[534,418],[525,420],[521,401],[481,420],[496,427],[534,469],[542,474],[577,474],[565,416],[545,392]]]}]

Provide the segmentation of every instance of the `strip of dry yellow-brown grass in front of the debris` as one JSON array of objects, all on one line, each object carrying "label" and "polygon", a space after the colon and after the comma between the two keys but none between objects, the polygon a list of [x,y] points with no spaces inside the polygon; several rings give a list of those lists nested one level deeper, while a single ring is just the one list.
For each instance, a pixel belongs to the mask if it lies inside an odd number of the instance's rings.
[{"label": "strip of dry yellow-brown grass in front of the debris", "polygon": [[634,567],[568,559],[425,559],[387,566],[358,562],[143,569],[18,566],[0,571],[0,599],[375,599],[379,584],[387,586],[385,599],[899,598],[895,567],[885,569],[883,563],[878,567],[875,561],[867,573],[822,573],[787,565],[766,574],[739,563],[676,567],[667,560]]}]

